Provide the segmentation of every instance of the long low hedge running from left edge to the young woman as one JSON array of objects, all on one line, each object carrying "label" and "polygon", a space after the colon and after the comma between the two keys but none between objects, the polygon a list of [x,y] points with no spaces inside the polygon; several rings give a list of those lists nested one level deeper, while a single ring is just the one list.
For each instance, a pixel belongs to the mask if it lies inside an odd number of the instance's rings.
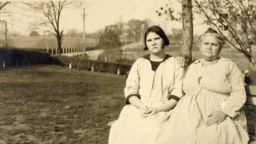
[{"label": "long low hedge running from left edge to the young woman", "polygon": [[116,64],[109,62],[89,60],[89,57],[82,56],[51,56],[49,53],[36,50],[7,49],[0,48],[0,67],[26,66],[36,64],[58,64],[77,69],[86,69],[97,72],[117,73],[121,75],[130,70],[131,64]]}]

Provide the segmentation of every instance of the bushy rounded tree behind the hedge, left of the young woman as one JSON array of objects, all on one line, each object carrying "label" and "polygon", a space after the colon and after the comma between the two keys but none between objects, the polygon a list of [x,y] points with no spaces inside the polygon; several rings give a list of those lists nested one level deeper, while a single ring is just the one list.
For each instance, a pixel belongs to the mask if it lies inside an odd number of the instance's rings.
[{"label": "bushy rounded tree behind the hedge, left of the young woman", "polygon": [[116,62],[121,59],[121,42],[116,31],[106,26],[101,32],[97,42],[97,48],[104,50],[104,61]]}]

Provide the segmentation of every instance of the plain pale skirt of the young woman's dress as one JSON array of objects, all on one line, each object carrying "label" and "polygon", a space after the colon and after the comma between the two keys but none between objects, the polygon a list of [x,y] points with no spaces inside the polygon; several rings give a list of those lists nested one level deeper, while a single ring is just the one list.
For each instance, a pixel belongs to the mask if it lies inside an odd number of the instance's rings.
[{"label": "plain pale skirt of the young woman's dress", "polygon": [[[144,99],[144,98],[141,98]],[[146,99],[143,100],[147,101]],[[148,100],[146,103],[164,103]],[[111,126],[110,144],[155,144],[164,132],[171,111],[159,112],[144,118],[133,105],[126,105],[121,114]]]}]

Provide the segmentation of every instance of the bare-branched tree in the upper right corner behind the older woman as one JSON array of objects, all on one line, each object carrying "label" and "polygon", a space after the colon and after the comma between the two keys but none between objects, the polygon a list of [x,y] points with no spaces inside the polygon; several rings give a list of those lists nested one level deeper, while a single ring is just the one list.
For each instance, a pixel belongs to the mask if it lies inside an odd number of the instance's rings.
[{"label": "bare-branched tree in the upper right corner behind the older woman", "polygon": [[256,1],[255,0],[195,0],[193,11],[204,16],[208,25],[221,34],[228,32],[226,40],[243,53],[255,71],[252,49],[256,49]]}]

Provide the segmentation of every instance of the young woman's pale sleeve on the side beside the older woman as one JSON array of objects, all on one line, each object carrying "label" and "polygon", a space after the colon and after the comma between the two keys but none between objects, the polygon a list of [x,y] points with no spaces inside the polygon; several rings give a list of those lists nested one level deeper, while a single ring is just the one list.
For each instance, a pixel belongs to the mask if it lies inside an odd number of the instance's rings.
[{"label": "young woman's pale sleeve on the side beside the older woman", "polygon": [[177,96],[181,98],[184,96],[184,92],[182,91],[183,79],[185,76],[185,70],[183,67],[175,66],[176,71],[174,72],[174,83],[173,83],[173,91],[171,92],[171,96]]}]

